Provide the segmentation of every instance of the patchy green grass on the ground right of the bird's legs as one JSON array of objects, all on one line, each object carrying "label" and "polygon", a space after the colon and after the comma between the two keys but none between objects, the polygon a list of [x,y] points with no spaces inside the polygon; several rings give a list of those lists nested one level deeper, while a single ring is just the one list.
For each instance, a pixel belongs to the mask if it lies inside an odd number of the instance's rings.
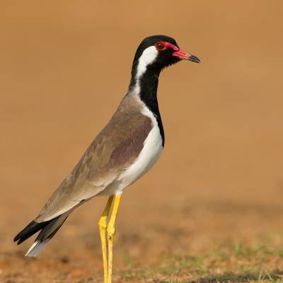
[{"label": "patchy green grass on the ground right of the bird's legs", "polygon": [[156,266],[140,268],[138,262],[125,258],[126,269],[119,272],[119,282],[283,283],[283,270],[279,268],[283,268],[283,250],[268,245],[234,243],[202,256],[162,255],[157,262]]}]

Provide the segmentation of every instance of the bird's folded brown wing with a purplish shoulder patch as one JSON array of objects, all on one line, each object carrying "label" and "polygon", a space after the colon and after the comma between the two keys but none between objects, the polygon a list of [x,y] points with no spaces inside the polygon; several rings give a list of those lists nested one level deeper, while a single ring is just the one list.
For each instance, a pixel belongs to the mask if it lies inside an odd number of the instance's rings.
[{"label": "bird's folded brown wing with a purplish shoulder patch", "polygon": [[118,110],[35,221],[50,220],[104,190],[139,156],[151,127],[140,112]]}]

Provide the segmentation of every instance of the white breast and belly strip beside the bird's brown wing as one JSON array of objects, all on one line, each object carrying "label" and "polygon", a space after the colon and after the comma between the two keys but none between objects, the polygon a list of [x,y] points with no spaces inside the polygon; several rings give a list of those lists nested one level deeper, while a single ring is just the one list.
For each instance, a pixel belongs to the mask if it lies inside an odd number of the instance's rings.
[{"label": "white breast and belly strip beside the bird's brown wing", "polygon": [[118,180],[120,180],[121,183],[116,192],[118,195],[122,193],[125,187],[131,185],[149,171],[149,169],[154,166],[154,163],[156,163],[163,150],[162,138],[156,118],[145,105],[141,113],[151,118],[153,127],[144,141],[144,147],[141,149],[137,160],[119,176]]}]

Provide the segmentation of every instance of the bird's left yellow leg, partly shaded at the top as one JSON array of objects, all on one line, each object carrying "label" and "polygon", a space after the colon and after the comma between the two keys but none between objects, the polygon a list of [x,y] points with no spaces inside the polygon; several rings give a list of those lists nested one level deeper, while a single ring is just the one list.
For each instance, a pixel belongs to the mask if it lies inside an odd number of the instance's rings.
[{"label": "bird's left yellow leg, partly shaded at the top", "polygon": [[111,208],[111,204],[114,196],[111,195],[108,198],[108,202],[105,206],[104,212],[98,221],[101,247],[102,247],[102,256],[103,256],[103,270],[104,270],[104,283],[108,283],[108,259],[107,259],[107,247],[106,247],[106,229],[107,229],[107,217]]}]

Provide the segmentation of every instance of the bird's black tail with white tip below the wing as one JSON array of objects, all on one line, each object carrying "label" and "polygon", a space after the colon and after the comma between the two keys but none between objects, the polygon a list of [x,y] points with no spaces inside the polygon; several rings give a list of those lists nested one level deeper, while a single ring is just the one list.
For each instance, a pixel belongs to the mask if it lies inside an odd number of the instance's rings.
[{"label": "bird's black tail with white tip below the wing", "polygon": [[65,212],[62,215],[57,216],[54,219],[37,223],[35,221],[31,221],[28,226],[25,227],[18,235],[13,239],[14,242],[18,241],[18,245],[23,243],[27,238],[33,236],[37,231],[40,231],[37,238],[35,238],[35,242],[28,250],[28,253],[25,256],[36,257],[41,250],[45,247],[45,245],[53,238],[55,233],[60,229],[64,221],[69,216],[70,212]]}]

